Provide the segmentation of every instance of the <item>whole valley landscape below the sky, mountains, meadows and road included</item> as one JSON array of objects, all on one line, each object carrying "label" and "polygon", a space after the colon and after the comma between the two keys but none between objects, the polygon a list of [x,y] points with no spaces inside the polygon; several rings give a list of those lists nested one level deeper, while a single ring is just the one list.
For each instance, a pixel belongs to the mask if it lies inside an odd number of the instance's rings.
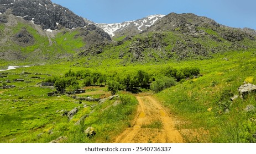
[{"label": "whole valley landscape below the sky, mountains, meadows and road included", "polygon": [[0,2],[0,142],[256,142],[255,30]]}]

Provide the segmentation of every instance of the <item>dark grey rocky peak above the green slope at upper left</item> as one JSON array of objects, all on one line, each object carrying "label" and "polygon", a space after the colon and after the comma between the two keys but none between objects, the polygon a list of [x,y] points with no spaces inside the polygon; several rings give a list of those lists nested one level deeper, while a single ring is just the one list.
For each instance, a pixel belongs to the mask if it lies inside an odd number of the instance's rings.
[{"label": "dark grey rocky peak above the green slope at upper left", "polygon": [[34,24],[42,26],[43,29],[55,30],[59,24],[68,29],[87,25],[83,18],[50,0],[0,1],[0,12],[4,14],[8,9],[13,15],[33,21]]}]

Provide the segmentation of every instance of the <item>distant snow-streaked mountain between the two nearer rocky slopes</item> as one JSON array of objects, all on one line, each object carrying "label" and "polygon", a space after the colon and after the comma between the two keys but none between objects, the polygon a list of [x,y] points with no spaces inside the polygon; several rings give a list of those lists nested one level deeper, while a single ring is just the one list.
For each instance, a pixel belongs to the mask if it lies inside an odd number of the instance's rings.
[{"label": "distant snow-streaked mountain between the two nearer rocky slopes", "polygon": [[135,21],[126,21],[116,24],[96,24],[105,30],[110,36],[134,36],[153,25],[155,21],[163,18],[164,15],[149,15],[148,17]]}]

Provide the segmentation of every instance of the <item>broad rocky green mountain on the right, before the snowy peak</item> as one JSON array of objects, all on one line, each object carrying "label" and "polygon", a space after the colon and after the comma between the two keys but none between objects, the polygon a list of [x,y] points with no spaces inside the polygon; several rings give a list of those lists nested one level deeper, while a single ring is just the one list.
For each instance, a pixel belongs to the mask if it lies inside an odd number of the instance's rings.
[{"label": "broad rocky green mountain on the right, before the snowy peak", "polygon": [[93,46],[79,57],[94,56],[101,62],[112,58],[120,65],[205,59],[215,53],[256,48],[255,38],[252,29],[224,26],[192,13],[170,13],[139,35],[112,45]]}]

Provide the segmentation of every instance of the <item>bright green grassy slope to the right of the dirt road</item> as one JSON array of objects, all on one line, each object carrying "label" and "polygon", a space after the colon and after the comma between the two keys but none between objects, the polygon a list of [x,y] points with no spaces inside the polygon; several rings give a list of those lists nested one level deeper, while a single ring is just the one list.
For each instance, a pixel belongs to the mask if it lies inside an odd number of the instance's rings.
[{"label": "bright green grassy slope to the right of the dirt road", "polygon": [[[229,61],[223,60],[224,57]],[[256,132],[256,125],[250,122],[255,113],[243,110],[247,105],[256,105],[255,95],[245,100],[238,98],[234,102],[229,101],[230,96],[227,95],[227,92],[231,96],[238,94],[238,87],[249,76],[253,76],[252,84],[256,84],[255,61],[252,52],[230,52],[211,60],[197,61],[202,77],[171,87],[157,96],[180,120],[186,122],[179,125],[179,129],[203,128],[208,131],[207,142],[255,142],[252,135]],[[211,112],[207,111],[209,108],[212,108]],[[250,133],[247,127],[250,127]],[[187,142],[200,142],[191,140],[189,134],[184,137]]]}]

